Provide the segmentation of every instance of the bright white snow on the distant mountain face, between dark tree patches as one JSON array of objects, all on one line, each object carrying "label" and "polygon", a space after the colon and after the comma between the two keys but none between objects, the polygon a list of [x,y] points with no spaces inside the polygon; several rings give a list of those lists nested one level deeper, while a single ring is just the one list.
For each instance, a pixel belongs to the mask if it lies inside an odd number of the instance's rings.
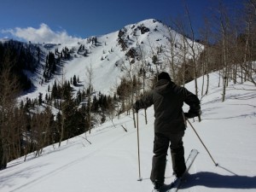
[{"label": "bright white snow on the distant mountain face, between dark tree patches", "polygon": [[[131,55],[132,50],[136,51],[134,54],[135,58],[131,58],[131,62],[134,61],[132,68],[139,68],[143,61],[148,78],[150,78],[151,75],[151,73],[148,73],[149,69],[154,71],[154,73],[156,72],[156,67],[158,67],[159,70],[160,68],[165,68],[166,71],[169,71],[166,56],[170,54],[170,39],[173,39],[173,42],[175,42],[175,46],[172,44],[174,53],[181,52],[182,50],[177,48],[183,44],[182,36],[172,31],[160,21],[150,19],[125,26],[117,32],[105,34],[100,37],[85,38],[79,42],[73,42],[73,44],[37,45],[44,51],[44,56],[47,55],[49,51],[55,53],[55,49],[59,51],[65,47],[73,49],[72,59],[64,61],[64,79],[69,80],[76,75],[81,81],[80,85],[84,85],[86,89],[89,83],[86,69],[90,68],[91,65],[94,89],[105,94],[110,94],[110,92],[113,92],[113,87],[119,84],[120,78],[130,69],[130,62],[125,55],[127,53]],[[84,49],[78,51],[80,46],[84,46]],[[84,56],[85,51],[88,53],[86,56]],[[198,49],[198,51],[200,51],[200,49]],[[153,63],[153,55],[157,55],[157,66]],[[176,55],[182,55],[182,53]],[[55,57],[57,57],[57,55],[55,55]],[[45,65],[45,58],[42,60],[41,64],[42,66]],[[125,70],[125,67],[128,69]],[[38,97],[39,91],[45,95],[48,86],[50,85],[51,87],[55,79],[59,79],[59,82],[61,82],[62,72],[60,72],[59,75],[55,75],[49,83],[42,84],[42,79],[44,79],[43,73],[43,68],[38,70],[37,75],[32,78],[36,89],[25,93],[22,98]],[[135,70],[132,73],[137,75]],[[78,90],[81,89],[81,87],[75,89]]]}]

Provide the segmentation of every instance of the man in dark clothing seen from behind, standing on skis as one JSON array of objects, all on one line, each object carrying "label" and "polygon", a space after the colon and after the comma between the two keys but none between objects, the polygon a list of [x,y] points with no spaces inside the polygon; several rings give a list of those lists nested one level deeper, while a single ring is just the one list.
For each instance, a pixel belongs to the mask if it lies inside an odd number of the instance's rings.
[{"label": "man in dark clothing seen from behind, standing on skis", "polygon": [[[188,113],[183,113],[183,102],[189,105]],[[185,118],[198,116],[201,107],[197,96],[174,84],[166,72],[158,75],[154,90],[135,102],[133,108],[138,112],[153,104],[154,156],[150,179],[154,183],[154,191],[160,191],[165,182],[166,155],[170,143],[173,173],[181,177],[186,170],[183,148]]]}]

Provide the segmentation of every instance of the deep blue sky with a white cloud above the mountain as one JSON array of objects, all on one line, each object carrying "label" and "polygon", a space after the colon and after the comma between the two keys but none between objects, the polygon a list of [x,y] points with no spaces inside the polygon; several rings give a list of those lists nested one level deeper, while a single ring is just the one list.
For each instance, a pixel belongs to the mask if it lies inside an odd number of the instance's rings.
[{"label": "deep blue sky with a white cloud above the mountain", "polygon": [[[168,23],[183,15],[184,2],[198,28],[217,0],[0,0],[0,38],[88,38],[146,19]],[[230,9],[237,2],[224,0]]]}]

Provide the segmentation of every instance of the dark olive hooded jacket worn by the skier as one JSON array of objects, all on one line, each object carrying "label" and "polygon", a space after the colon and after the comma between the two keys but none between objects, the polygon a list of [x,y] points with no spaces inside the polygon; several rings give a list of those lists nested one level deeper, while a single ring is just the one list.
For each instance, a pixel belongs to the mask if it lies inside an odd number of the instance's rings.
[{"label": "dark olive hooded jacket worn by the skier", "polygon": [[177,133],[185,130],[183,102],[189,105],[189,117],[200,113],[200,101],[189,90],[166,79],[159,80],[134,108],[148,108],[154,104],[154,132]]}]

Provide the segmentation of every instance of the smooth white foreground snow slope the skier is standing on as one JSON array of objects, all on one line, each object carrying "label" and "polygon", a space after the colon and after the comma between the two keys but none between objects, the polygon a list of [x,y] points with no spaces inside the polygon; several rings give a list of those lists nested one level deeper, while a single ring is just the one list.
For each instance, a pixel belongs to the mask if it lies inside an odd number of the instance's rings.
[{"label": "smooth white foreground snow slope the skier is standing on", "polygon": [[[201,79],[198,83],[201,87]],[[193,92],[194,82],[186,84]],[[195,132],[188,127],[183,138],[185,158],[192,148],[200,154],[180,191],[256,191],[256,91],[250,83],[230,84],[221,102],[218,74],[210,76],[210,89],[202,97],[202,121],[190,119],[219,166],[215,166]],[[184,111],[188,110],[184,106]],[[114,125],[114,126],[113,126]],[[125,132],[123,125],[128,131]],[[154,110],[148,108],[148,125],[139,111],[142,182],[138,182],[137,129],[131,116],[96,127],[88,143],[81,135],[9,162],[0,172],[1,192],[148,192],[154,141]],[[171,183],[172,160],[167,156],[166,183]]]}]

